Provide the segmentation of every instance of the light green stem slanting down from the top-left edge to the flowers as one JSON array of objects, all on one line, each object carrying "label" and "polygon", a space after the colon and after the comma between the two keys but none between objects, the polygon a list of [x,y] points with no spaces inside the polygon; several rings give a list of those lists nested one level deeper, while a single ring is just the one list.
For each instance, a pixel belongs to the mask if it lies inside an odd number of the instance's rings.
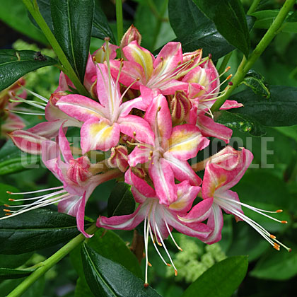
[{"label": "light green stem slanting down from the top-left edge to the flowers", "polygon": [[25,4],[28,11],[31,13],[31,15],[35,19],[36,23],[39,25],[43,34],[45,34],[45,37],[50,42],[50,45],[52,45],[52,49],[57,54],[59,61],[64,66],[64,69],[63,69],[64,73],[74,83],[74,86],[76,86],[77,91],[81,95],[89,96],[88,91],[86,91],[86,88],[83,86],[83,84],[79,80],[78,76],[74,72],[74,69],[72,68],[71,64],[69,63],[66,55],[64,54],[62,47],[60,47],[59,42],[57,42],[56,37],[54,37],[54,34],[52,33],[52,31],[48,27],[47,23],[45,22],[45,19],[42,17],[42,15],[39,11],[39,8],[37,6],[36,0],[34,0],[33,3],[30,0],[23,0],[23,4]]}]

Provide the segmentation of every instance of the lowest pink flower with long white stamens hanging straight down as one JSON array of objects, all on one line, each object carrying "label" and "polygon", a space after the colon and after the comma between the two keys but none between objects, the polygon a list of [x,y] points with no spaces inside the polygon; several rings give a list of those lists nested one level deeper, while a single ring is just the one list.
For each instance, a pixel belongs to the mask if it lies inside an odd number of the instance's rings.
[{"label": "lowest pink flower with long white stamens hanging straight down", "polygon": [[[146,252],[146,284],[147,284],[147,267],[148,267],[148,235],[151,236],[153,246],[161,257],[161,260],[168,266],[173,266],[175,269],[175,275],[177,269],[173,264],[173,260],[165,246],[164,239],[170,237],[175,243],[171,231],[175,228],[177,231],[186,235],[194,236],[199,239],[206,238],[209,235],[209,228],[200,222],[192,223],[191,226],[187,226],[187,223],[180,221],[180,216],[185,216],[187,211],[190,210],[194,199],[200,190],[200,187],[191,186],[189,182],[183,181],[178,185],[175,185],[177,192],[177,199],[175,202],[164,205],[160,204],[158,197],[156,196],[155,190],[151,188],[144,180],[137,177],[129,169],[125,174],[125,182],[132,185],[132,193],[139,206],[133,214],[126,216],[112,216],[107,218],[100,216],[97,220],[97,226],[106,229],[121,229],[121,230],[132,230],[136,226],[144,221],[144,243]],[[136,188],[134,185],[138,185]],[[140,186],[141,185],[141,186]],[[200,202],[197,207],[201,208],[201,211],[205,208],[205,202]],[[209,206],[206,206],[209,208]],[[161,253],[158,251],[156,242],[158,245],[163,246],[166,254],[170,260],[170,264],[165,262]],[[179,250],[182,250],[176,243],[175,245]]]}]

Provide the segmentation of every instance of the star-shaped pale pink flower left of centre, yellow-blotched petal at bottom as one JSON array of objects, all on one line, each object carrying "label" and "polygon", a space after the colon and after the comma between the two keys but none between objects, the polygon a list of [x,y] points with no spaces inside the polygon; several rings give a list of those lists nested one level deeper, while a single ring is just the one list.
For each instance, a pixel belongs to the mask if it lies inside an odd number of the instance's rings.
[{"label": "star-shaped pale pink flower left of centre, yellow-blotched petal at bottom", "polygon": [[122,103],[120,86],[105,64],[97,67],[97,93],[100,103],[82,95],[66,95],[57,106],[70,117],[84,122],[81,127],[83,153],[117,146],[120,133],[153,144],[153,132],[141,117],[129,115],[133,107],[143,108],[142,98]]}]

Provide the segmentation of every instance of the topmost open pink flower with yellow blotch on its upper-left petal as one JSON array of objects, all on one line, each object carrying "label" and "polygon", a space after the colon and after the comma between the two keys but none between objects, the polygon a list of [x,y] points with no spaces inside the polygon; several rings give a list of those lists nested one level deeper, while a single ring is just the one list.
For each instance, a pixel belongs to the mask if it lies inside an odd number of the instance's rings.
[{"label": "topmost open pink flower with yellow blotch on its upper-left petal", "polygon": [[160,90],[163,95],[187,91],[188,83],[177,81],[185,67],[191,63],[182,64],[180,42],[168,42],[156,58],[136,40],[130,42],[122,51],[127,61],[110,61],[112,76],[117,77],[121,69],[120,83],[129,86],[136,81],[131,88],[146,86]]}]

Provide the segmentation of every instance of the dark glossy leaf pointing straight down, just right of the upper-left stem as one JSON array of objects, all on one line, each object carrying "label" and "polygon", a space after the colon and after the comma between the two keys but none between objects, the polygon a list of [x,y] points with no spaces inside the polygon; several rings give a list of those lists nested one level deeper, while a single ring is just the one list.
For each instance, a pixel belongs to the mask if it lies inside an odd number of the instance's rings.
[{"label": "dark glossy leaf pointing straight down, just right of the upper-left stem", "polygon": [[83,83],[91,42],[94,0],[52,0],[54,35]]}]

